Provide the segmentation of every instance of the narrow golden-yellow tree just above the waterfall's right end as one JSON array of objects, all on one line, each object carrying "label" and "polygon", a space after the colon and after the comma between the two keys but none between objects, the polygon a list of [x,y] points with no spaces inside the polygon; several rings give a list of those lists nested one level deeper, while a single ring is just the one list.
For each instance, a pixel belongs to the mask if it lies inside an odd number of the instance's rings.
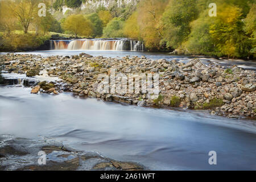
[{"label": "narrow golden-yellow tree just above the waterfall's right end", "polygon": [[141,35],[138,26],[138,12],[135,11],[125,22],[123,34],[131,39],[140,39]]}]

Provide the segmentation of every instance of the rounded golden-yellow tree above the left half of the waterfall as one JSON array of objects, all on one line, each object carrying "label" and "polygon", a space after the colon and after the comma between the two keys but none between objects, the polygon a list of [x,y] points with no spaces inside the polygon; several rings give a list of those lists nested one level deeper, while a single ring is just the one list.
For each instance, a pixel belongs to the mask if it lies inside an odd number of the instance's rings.
[{"label": "rounded golden-yellow tree above the left half of the waterfall", "polygon": [[93,25],[83,15],[70,15],[63,23],[64,30],[70,31],[75,36],[91,36],[93,33]]}]

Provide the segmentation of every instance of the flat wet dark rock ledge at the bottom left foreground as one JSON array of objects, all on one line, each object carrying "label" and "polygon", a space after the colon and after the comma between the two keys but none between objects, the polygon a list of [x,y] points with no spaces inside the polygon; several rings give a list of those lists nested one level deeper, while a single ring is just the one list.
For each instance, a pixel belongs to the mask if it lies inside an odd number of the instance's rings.
[{"label": "flat wet dark rock ledge at the bottom left foreground", "polygon": [[[45,164],[38,163],[42,154],[46,156]],[[77,151],[49,139],[31,140],[0,135],[0,171],[137,171],[143,169],[146,168],[137,163],[119,162],[105,158],[96,152]]]}]

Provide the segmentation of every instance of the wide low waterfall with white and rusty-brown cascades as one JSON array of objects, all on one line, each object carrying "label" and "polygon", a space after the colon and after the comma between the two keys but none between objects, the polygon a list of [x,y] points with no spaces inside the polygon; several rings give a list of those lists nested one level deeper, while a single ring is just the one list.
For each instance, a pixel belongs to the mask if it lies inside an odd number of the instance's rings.
[{"label": "wide low waterfall with white and rusty-brown cascades", "polygon": [[51,40],[50,48],[94,51],[144,51],[143,42],[130,39]]}]

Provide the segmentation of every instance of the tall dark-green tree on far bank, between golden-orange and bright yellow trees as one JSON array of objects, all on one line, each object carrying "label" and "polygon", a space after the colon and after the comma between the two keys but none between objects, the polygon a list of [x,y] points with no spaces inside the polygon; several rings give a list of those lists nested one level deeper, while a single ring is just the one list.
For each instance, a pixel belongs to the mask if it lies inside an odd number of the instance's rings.
[{"label": "tall dark-green tree on far bank, between golden-orange and bright yellow trees", "polygon": [[163,14],[163,41],[168,47],[181,46],[191,32],[189,23],[195,20],[198,14],[197,0],[170,0]]}]

